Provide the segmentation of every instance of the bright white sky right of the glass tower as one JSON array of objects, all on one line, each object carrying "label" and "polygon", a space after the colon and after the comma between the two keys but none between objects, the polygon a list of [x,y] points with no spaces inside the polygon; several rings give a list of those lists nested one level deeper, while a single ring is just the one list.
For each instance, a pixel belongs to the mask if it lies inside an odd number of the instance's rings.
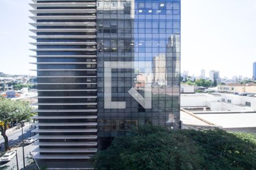
[{"label": "bright white sky right of the glass tower", "polygon": [[255,0],[181,1],[181,73],[253,77]]}]

